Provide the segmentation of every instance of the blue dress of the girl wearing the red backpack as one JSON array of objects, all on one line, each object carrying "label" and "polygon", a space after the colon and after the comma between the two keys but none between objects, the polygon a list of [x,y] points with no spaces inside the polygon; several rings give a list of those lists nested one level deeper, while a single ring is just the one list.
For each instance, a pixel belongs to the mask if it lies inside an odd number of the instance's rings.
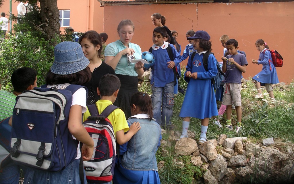
[{"label": "blue dress of the girl wearing the red backpack", "polygon": [[[270,60],[270,62],[269,62]],[[272,62],[272,56],[268,49],[263,49],[259,54],[257,64],[262,64],[261,71],[256,74],[252,79],[260,82],[260,85],[277,84],[279,83],[277,70]]]}]

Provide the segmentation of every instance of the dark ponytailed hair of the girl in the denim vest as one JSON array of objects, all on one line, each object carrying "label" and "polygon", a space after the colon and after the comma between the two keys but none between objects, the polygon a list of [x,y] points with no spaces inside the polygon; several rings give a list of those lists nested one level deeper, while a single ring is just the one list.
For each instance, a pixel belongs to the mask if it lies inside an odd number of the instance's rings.
[{"label": "dark ponytailed hair of the girl in the denim vest", "polygon": [[131,106],[136,105],[140,110],[149,115],[149,120],[153,118],[153,108],[151,98],[147,93],[137,92],[131,97]]}]

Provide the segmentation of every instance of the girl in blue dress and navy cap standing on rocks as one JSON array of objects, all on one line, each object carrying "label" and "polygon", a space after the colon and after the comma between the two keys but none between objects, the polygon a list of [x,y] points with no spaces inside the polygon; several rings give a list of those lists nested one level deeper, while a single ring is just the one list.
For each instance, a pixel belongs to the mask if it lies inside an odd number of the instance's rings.
[{"label": "girl in blue dress and navy cap standing on rocks", "polygon": [[194,41],[196,54],[194,58],[189,57],[186,66],[185,80],[188,82],[186,95],[180,112],[183,117],[183,129],[180,138],[188,137],[188,127],[191,117],[201,119],[201,134],[199,144],[206,142],[206,132],[208,129],[209,118],[218,115],[216,107],[216,97],[211,84],[211,79],[216,76],[216,58],[209,54],[207,69],[203,66],[203,55],[211,51],[210,36],[205,31],[197,31],[193,37],[187,37]]}]

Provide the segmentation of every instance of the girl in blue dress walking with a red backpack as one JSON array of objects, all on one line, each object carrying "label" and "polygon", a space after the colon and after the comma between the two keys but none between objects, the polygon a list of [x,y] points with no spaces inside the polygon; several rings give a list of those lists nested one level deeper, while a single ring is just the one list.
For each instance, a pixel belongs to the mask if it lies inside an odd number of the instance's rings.
[{"label": "girl in blue dress walking with a red backpack", "polygon": [[258,39],[255,42],[256,49],[260,52],[259,59],[252,60],[254,64],[262,64],[262,70],[254,77],[252,77],[253,82],[256,85],[258,94],[254,97],[263,98],[260,86],[265,85],[266,91],[269,93],[271,99],[275,99],[273,94],[273,87],[271,84],[279,83],[277,70],[273,64],[272,56],[270,54],[268,45],[262,40]]}]

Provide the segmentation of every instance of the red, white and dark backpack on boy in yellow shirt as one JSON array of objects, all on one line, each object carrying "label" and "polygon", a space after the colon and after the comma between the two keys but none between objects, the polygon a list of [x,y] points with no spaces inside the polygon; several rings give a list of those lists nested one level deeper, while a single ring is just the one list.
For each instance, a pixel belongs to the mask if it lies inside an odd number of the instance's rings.
[{"label": "red, white and dark backpack on boy in yellow shirt", "polygon": [[83,125],[94,141],[94,151],[89,161],[83,161],[86,178],[91,183],[110,182],[114,172],[116,139],[107,117],[119,107],[108,105],[100,115],[96,104],[87,107],[91,116]]}]

